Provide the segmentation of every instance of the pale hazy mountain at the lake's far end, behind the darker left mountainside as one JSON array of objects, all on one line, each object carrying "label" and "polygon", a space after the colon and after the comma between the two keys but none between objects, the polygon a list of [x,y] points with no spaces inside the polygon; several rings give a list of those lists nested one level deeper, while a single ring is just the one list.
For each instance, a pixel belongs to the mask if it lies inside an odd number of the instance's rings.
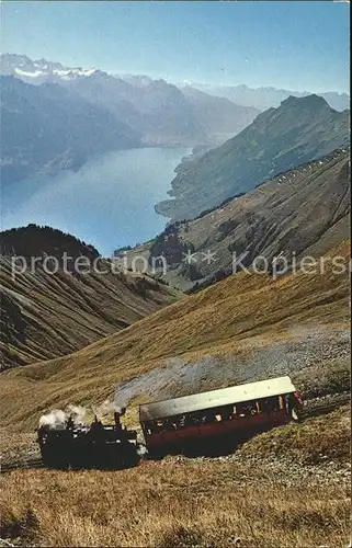
[{"label": "pale hazy mountain at the lake's far end, behind the darker left mountainside", "polygon": [[146,145],[218,145],[259,114],[192,88],[179,90],[145,76],[113,77],[100,70],[67,85],[112,111],[138,130]]}]

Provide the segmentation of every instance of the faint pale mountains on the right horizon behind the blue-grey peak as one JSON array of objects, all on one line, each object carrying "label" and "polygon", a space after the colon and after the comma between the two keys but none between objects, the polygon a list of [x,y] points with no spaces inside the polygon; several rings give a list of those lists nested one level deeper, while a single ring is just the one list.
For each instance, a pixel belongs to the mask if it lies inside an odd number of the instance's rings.
[{"label": "faint pale mountains on the right horizon behind the blue-grey peak", "polygon": [[[247,85],[212,85],[202,83],[190,83],[192,88],[198,89],[208,93],[209,95],[217,95],[220,98],[229,99],[239,105],[254,106],[260,111],[266,111],[272,106],[279,106],[282,101],[288,96],[303,98],[310,95],[309,91],[291,91],[277,90],[276,88],[248,88]],[[350,96],[347,93],[338,93],[337,91],[329,91],[326,93],[317,93],[323,98],[329,105],[336,111],[344,111],[350,109]]]}]

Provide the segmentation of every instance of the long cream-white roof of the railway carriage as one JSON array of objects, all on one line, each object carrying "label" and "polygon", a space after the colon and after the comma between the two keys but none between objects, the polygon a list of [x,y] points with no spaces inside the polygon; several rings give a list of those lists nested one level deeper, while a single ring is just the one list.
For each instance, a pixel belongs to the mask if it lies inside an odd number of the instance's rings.
[{"label": "long cream-white roof of the railway carriage", "polygon": [[171,400],[144,403],[139,406],[139,419],[143,422],[166,419],[193,411],[204,411],[223,406],[291,393],[295,390],[296,388],[288,376],[276,377],[258,383],[248,383],[219,390],[183,396]]}]

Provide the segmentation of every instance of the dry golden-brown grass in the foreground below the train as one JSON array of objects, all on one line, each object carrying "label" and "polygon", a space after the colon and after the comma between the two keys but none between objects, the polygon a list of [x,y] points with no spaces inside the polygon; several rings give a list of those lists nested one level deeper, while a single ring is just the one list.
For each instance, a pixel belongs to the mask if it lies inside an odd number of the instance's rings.
[{"label": "dry golden-brown grass in the foreground below the train", "polygon": [[[251,481],[248,481],[248,478]],[[2,537],[25,546],[347,546],[341,484],[285,486],[230,461],[2,478]]]}]

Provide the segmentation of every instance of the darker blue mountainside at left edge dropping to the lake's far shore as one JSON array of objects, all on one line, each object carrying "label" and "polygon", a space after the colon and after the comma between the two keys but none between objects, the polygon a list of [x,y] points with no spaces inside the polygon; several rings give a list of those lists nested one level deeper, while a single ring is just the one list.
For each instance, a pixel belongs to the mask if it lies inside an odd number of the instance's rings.
[{"label": "darker blue mountainside at left edge dropping to the lake's far shore", "polygon": [[12,76],[1,77],[1,137],[3,184],[139,146],[138,134],[109,111],[58,84],[30,85]]}]

